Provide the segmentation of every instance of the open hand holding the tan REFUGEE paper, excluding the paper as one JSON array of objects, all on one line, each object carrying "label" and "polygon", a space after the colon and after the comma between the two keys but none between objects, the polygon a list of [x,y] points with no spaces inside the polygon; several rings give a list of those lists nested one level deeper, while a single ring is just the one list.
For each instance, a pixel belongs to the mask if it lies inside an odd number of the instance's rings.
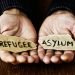
[{"label": "open hand holding the tan REFUGEE paper, excluding the paper", "polygon": [[[23,37],[33,42],[36,42],[37,39],[33,24],[27,16],[18,9],[6,10],[0,16],[0,34]],[[37,50],[16,54],[0,50],[0,58],[6,63],[14,64],[33,63],[36,62],[36,58],[39,61]]]}]

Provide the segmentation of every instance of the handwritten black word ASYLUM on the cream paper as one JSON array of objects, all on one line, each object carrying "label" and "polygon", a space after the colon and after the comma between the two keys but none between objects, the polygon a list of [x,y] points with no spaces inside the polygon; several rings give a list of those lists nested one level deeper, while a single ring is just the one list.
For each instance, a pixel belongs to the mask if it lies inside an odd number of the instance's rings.
[{"label": "handwritten black word ASYLUM on the cream paper", "polygon": [[42,44],[46,45],[46,46],[51,46],[51,47],[56,47],[56,46],[74,46],[74,42],[73,41],[62,41],[62,40],[43,40]]}]

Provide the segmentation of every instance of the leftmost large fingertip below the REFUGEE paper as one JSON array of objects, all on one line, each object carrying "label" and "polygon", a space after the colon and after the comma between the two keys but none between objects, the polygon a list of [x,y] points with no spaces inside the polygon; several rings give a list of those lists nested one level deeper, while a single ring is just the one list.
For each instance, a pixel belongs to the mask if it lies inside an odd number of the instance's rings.
[{"label": "leftmost large fingertip below the REFUGEE paper", "polygon": [[0,58],[2,61],[6,63],[13,63],[15,62],[15,57],[11,55],[9,52],[1,51],[0,50]]}]

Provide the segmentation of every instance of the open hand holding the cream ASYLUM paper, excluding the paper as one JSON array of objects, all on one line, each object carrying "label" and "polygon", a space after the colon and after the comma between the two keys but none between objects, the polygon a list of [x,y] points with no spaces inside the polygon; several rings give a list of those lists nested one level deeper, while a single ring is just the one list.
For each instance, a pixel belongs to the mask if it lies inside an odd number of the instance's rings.
[{"label": "open hand holding the cream ASYLUM paper, excluding the paper", "polygon": [[[56,11],[48,16],[39,30],[39,39],[42,36],[48,36],[50,34],[70,34],[75,37],[75,16],[69,11]],[[71,35],[71,34],[70,34]],[[39,44],[40,45],[40,44]],[[74,52],[72,51],[54,51],[54,55],[50,57],[50,54],[46,55],[47,50],[38,47],[38,55],[40,59],[45,63],[59,63],[72,62],[74,59]]]}]

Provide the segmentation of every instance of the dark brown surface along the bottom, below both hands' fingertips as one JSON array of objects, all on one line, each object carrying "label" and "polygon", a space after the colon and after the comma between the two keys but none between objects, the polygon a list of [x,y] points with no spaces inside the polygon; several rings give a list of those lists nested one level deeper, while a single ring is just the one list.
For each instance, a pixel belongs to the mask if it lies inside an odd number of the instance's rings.
[{"label": "dark brown surface along the bottom, below both hands' fingertips", "polygon": [[75,75],[74,63],[63,64],[20,64],[0,62],[0,75]]}]

